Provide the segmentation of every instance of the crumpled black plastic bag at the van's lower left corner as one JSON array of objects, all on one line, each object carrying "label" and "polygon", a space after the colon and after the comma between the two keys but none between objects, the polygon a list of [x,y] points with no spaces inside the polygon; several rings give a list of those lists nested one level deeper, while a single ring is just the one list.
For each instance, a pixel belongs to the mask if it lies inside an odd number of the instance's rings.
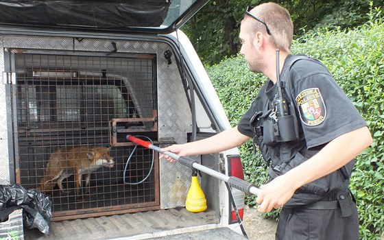
[{"label": "crumpled black plastic bag at the van's lower left corner", "polygon": [[[23,208],[23,223],[29,229],[38,228],[47,235],[51,233],[51,201],[36,190],[27,190],[19,184],[0,185],[0,219],[10,214],[8,208]],[[7,211],[8,209],[8,211]],[[1,214],[3,213],[3,214]]]}]

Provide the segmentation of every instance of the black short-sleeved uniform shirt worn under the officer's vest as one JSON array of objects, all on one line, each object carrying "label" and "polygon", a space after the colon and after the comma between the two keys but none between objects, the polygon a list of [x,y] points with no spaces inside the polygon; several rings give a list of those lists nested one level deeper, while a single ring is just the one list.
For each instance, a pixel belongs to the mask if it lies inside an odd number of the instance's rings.
[{"label": "black short-sleeved uniform shirt worn under the officer's vest", "polygon": [[[292,58],[291,55],[286,58],[280,80],[285,82],[285,90],[291,91],[291,99],[294,101],[296,114],[300,116],[298,122],[301,123],[308,149],[324,145],[337,136],[367,125],[324,65],[308,58],[298,60],[291,70],[287,71],[287,65]],[[274,88],[276,86],[272,86],[272,81],[262,86],[240,120],[237,127],[239,132],[254,136],[249,124],[250,119],[255,112],[263,111],[267,94],[270,98],[268,92],[274,91]]]}]

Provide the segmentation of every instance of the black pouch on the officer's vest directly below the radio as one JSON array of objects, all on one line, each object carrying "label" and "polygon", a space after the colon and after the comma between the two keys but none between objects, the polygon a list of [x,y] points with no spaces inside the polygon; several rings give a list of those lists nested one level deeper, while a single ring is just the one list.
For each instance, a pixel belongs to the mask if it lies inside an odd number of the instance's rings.
[{"label": "black pouch on the officer's vest directly below the radio", "polygon": [[288,142],[299,139],[298,124],[293,115],[278,117],[278,142]]}]

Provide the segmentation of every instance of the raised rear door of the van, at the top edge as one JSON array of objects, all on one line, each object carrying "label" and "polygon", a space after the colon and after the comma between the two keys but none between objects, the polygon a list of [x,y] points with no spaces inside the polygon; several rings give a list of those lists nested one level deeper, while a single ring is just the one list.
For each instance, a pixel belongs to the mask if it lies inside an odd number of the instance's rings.
[{"label": "raised rear door of the van, at the top edge", "polygon": [[208,0],[0,1],[0,26],[81,32],[167,34]]}]

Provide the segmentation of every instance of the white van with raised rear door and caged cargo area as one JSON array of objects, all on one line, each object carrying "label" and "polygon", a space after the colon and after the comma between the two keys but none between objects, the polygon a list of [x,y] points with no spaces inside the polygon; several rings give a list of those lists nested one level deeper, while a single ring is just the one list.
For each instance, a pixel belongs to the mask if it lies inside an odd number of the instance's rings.
[{"label": "white van with raised rear door and caged cargo area", "polygon": [[[186,211],[191,169],[126,140],[165,147],[230,128],[178,30],[207,1],[0,1],[0,184],[39,187],[63,148],[111,147],[115,162],[80,197],[63,178],[65,192],[47,192],[51,235],[25,239],[243,238],[225,182],[202,173],[208,208]],[[243,178],[238,149],[191,157]],[[232,195],[242,216],[244,193]]]}]

